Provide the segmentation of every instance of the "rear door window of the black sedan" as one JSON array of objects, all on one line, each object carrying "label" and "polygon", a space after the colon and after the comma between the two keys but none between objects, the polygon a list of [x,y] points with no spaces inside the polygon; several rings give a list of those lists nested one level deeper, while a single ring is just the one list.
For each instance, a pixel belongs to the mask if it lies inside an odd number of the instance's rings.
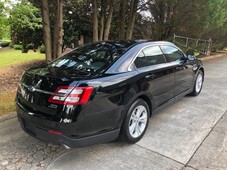
[{"label": "rear door window of the black sedan", "polygon": [[143,49],[134,63],[137,68],[141,68],[166,63],[166,59],[159,46],[151,46]]}]

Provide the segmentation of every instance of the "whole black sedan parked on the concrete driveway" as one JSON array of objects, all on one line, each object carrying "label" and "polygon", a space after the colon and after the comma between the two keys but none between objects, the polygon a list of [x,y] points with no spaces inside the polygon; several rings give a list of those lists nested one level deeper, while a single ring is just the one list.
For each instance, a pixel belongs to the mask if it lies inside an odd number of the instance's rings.
[{"label": "whole black sedan parked on the concrete driveway", "polygon": [[155,112],[197,96],[204,68],[163,41],[106,41],[76,48],[23,74],[16,96],[21,127],[66,147],[139,141]]}]

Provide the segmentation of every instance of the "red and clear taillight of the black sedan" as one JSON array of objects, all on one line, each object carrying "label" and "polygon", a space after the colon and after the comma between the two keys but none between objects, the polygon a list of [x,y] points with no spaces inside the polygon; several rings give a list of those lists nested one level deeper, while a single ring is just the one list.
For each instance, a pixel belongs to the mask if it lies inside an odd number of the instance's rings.
[{"label": "red and clear taillight of the black sedan", "polygon": [[51,95],[48,102],[56,104],[86,104],[90,99],[93,87],[60,86]]}]

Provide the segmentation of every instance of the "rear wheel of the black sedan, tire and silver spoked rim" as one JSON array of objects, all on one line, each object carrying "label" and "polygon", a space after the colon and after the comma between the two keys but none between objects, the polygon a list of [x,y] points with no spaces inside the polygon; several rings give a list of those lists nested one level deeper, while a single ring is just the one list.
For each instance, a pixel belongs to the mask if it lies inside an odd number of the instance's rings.
[{"label": "rear wheel of the black sedan, tire and silver spoked rim", "polygon": [[129,108],[122,125],[121,137],[128,143],[138,142],[146,132],[150,110],[147,103],[136,100]]}]

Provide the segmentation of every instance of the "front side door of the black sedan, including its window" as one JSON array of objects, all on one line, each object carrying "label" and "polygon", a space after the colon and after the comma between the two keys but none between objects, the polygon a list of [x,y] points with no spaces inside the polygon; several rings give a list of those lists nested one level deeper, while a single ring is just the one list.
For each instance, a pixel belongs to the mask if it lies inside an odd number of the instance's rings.
[{"label": "front side door of the black sedan, including its window", "polygon": [[186,56],[176,47],[170,45],[161,46],[168,62],[175,65],[175,96],[187,92],[193,85],[193,66]]}]

